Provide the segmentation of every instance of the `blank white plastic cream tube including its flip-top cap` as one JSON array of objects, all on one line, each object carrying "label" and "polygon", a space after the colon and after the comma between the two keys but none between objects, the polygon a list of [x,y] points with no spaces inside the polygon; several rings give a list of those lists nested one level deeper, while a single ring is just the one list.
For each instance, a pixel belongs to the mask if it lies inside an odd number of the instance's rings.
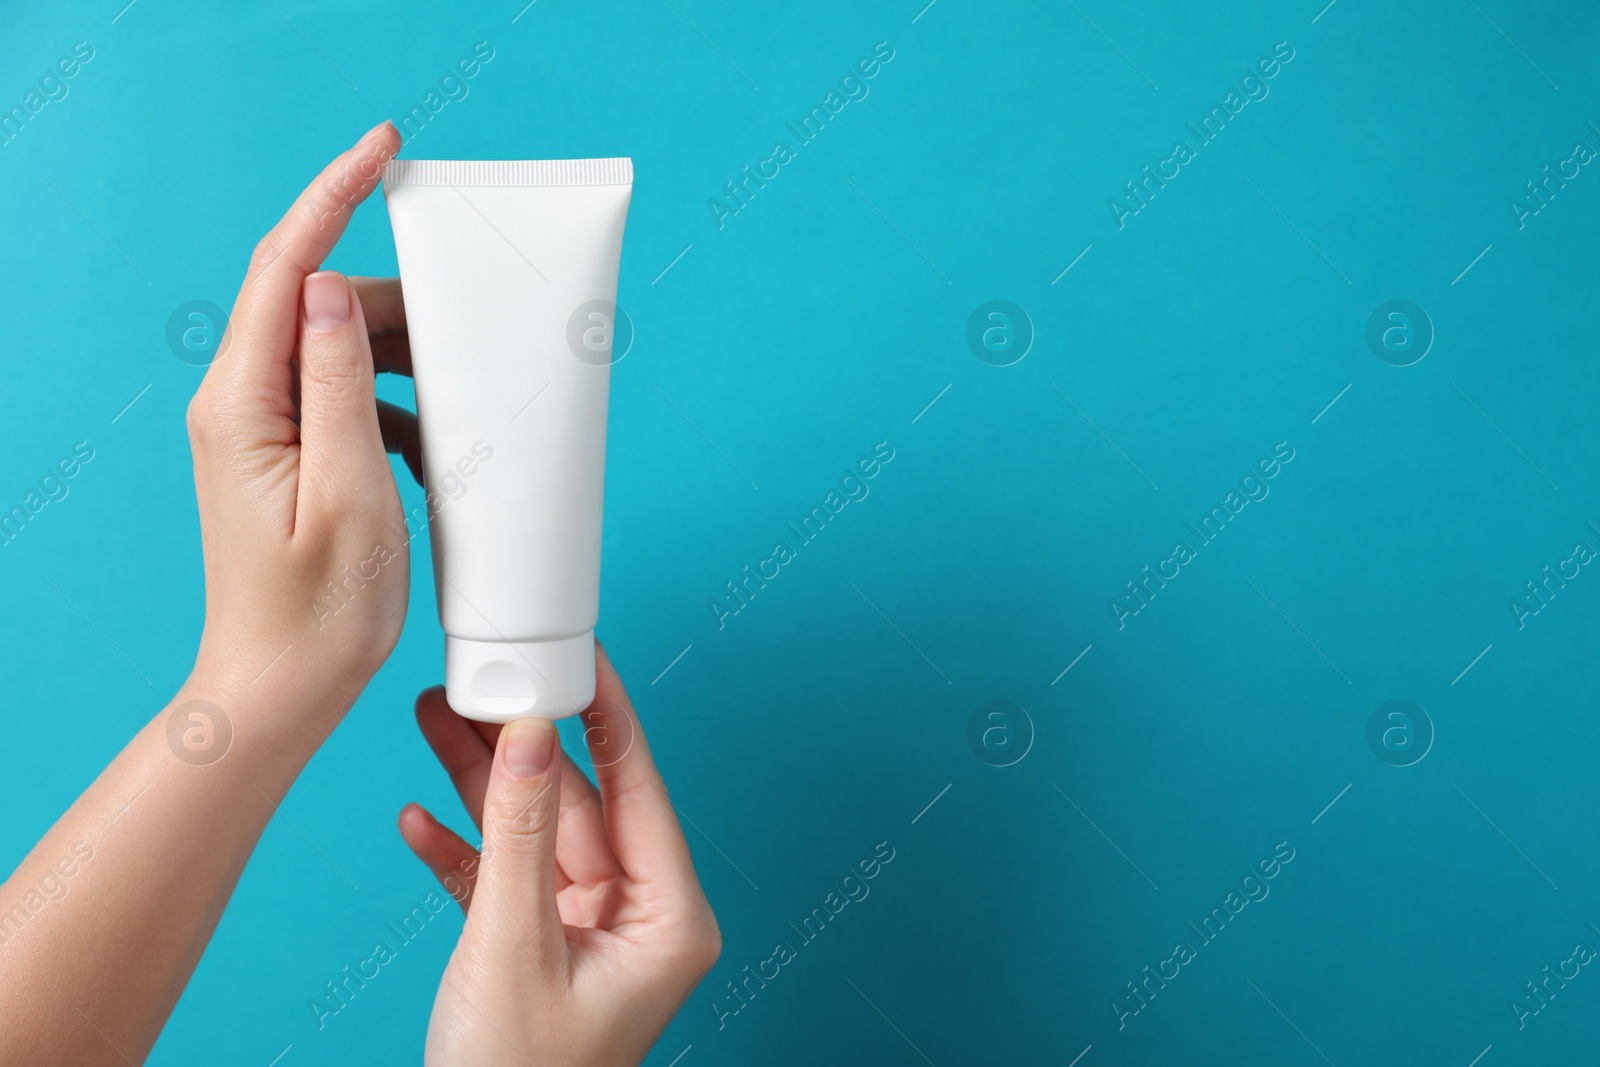
[{"label": "blank white plastic cream tube including its flip-top cap", "polygon": [[384,168],[445,694],[469,718],[560,718],[594,702],[606,397],[632,189],[626,158]]}]

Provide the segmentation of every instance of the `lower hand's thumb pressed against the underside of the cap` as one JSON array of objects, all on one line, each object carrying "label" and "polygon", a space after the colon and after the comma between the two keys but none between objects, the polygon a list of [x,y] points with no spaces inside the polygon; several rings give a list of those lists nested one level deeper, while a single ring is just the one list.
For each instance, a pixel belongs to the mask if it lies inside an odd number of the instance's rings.
[{"label": "lower hand's thumb pressed against the underside of the cap", "polygon": [[483,861],[467,926],[480,949],[565,973],[566,936],[555,904],[555,824],[562,806],[560,737],[544,718],[518,718],[499,736],[483,797]]}]

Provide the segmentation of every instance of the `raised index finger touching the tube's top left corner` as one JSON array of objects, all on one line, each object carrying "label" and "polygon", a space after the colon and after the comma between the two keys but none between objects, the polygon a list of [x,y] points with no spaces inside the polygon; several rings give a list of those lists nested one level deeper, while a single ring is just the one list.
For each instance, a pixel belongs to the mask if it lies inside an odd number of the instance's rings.
[{"label": "raised index finger touching the tube's top left corner", "polygon": [[301,282],[322,266],[355,208],[378,187],[400,134],[384,122],[328,165],[261,238],[229,320],[230,344],[208,376],[227,379],[242,398],[286,389],[299,333]]}]

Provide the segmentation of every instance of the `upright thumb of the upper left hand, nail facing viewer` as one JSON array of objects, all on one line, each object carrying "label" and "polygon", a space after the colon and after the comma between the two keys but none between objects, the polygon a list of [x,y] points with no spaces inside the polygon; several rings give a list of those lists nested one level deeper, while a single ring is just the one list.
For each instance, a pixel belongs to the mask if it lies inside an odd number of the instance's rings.
[{"label": "upright thumb of the upper left hand, nail facing viewer", "polygon": [[389,477],[378,429],[373,350],[355,290],[342,274],[304,282],[301,366],[301,501],[368,493]]}]

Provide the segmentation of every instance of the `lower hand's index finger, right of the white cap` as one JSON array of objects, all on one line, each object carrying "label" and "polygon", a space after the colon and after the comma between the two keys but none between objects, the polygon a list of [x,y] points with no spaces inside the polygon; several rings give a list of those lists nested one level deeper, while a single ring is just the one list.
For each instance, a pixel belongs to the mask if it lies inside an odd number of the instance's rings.
[{"label": "lower hand's index finger, right of the white cap", "polygon": [[[600,806],[611,848],[622,870],[635,881],[653,881],[674,889],[699,891],[688,841],[678,825],[677,811],[667,798],[666,784],[650,755],[650,742],[622,689],[622,680],[605,649],[595,646],[595,702],[584,712],[586,736],[595,752],[595,776],[600,781]],[[627,737],[627,753],[621,758],[598,755],[594,739]]]}]

